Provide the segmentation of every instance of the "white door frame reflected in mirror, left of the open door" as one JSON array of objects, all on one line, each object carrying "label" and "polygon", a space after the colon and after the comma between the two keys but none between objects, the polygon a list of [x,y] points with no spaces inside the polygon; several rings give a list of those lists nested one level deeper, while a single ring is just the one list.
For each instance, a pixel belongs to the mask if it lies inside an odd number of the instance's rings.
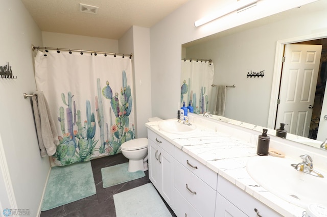
[{"label": "white door frame reflected in mirror, left of the open door", "polygon": [[272,87],[271,87],[267,128],[275,129],[275,121],[276,121],[276,114],[277,114],[277,99],[279,94],[279,86],[281,85],[281,75],[282,75],[282,67],[283,67],[282,60],[284,56],[285,44],[292,44],[301,41],[310,41],[320,38],[327,38],[327,32],[282,39],[276,42],[275,64],[274,64],[273,77],[272,77]]}]

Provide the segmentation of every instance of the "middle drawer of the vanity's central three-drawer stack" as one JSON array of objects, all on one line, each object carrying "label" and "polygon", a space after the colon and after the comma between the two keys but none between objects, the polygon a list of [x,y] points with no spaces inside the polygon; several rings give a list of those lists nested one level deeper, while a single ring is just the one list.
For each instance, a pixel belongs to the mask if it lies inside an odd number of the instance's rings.
[{"label": "middle drawer of the vanity's central three-drawer stack", "polygon": [[214,216],[216,191],[178,161],[175,163],[175,188],[202,216]]}]

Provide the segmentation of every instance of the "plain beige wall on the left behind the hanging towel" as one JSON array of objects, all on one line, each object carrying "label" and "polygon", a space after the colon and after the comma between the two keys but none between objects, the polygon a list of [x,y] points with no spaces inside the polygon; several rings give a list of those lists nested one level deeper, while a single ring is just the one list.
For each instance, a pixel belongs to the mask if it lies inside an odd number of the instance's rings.
[{"label": "plain beige wall on the left behind the hanging towel", "polygon": [[21,1],[1,1],[0,20],[0,66],[9,62],[17,76],[0,78],[1,206],[37,216],[50,163],[40,156],[30,98],[22,94],[36,90],[31,45],[42,44],[41,31]]}]

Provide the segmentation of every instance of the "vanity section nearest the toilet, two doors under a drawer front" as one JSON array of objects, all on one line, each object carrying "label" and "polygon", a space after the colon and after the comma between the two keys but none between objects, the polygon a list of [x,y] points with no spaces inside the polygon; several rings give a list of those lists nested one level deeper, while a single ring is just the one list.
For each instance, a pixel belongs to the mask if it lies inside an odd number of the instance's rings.
[{"label": "vanity section nearest the toilet, two doors under a drawer front", "polygon": [[149,179],[172,209],[174,209],[174,151],[174,145],[148,130]]}]

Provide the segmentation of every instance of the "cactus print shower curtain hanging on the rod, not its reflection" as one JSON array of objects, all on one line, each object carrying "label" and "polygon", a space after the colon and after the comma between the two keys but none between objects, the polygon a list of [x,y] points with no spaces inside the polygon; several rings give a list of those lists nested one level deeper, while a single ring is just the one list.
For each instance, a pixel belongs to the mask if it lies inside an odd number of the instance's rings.
[{"label": "cactus print shower curtain hanging on the rod, not its reflection", "polygon": [[135,138],[129,58],[39,50],[35,80],[57,122],[53,165],[113,155]]}]

